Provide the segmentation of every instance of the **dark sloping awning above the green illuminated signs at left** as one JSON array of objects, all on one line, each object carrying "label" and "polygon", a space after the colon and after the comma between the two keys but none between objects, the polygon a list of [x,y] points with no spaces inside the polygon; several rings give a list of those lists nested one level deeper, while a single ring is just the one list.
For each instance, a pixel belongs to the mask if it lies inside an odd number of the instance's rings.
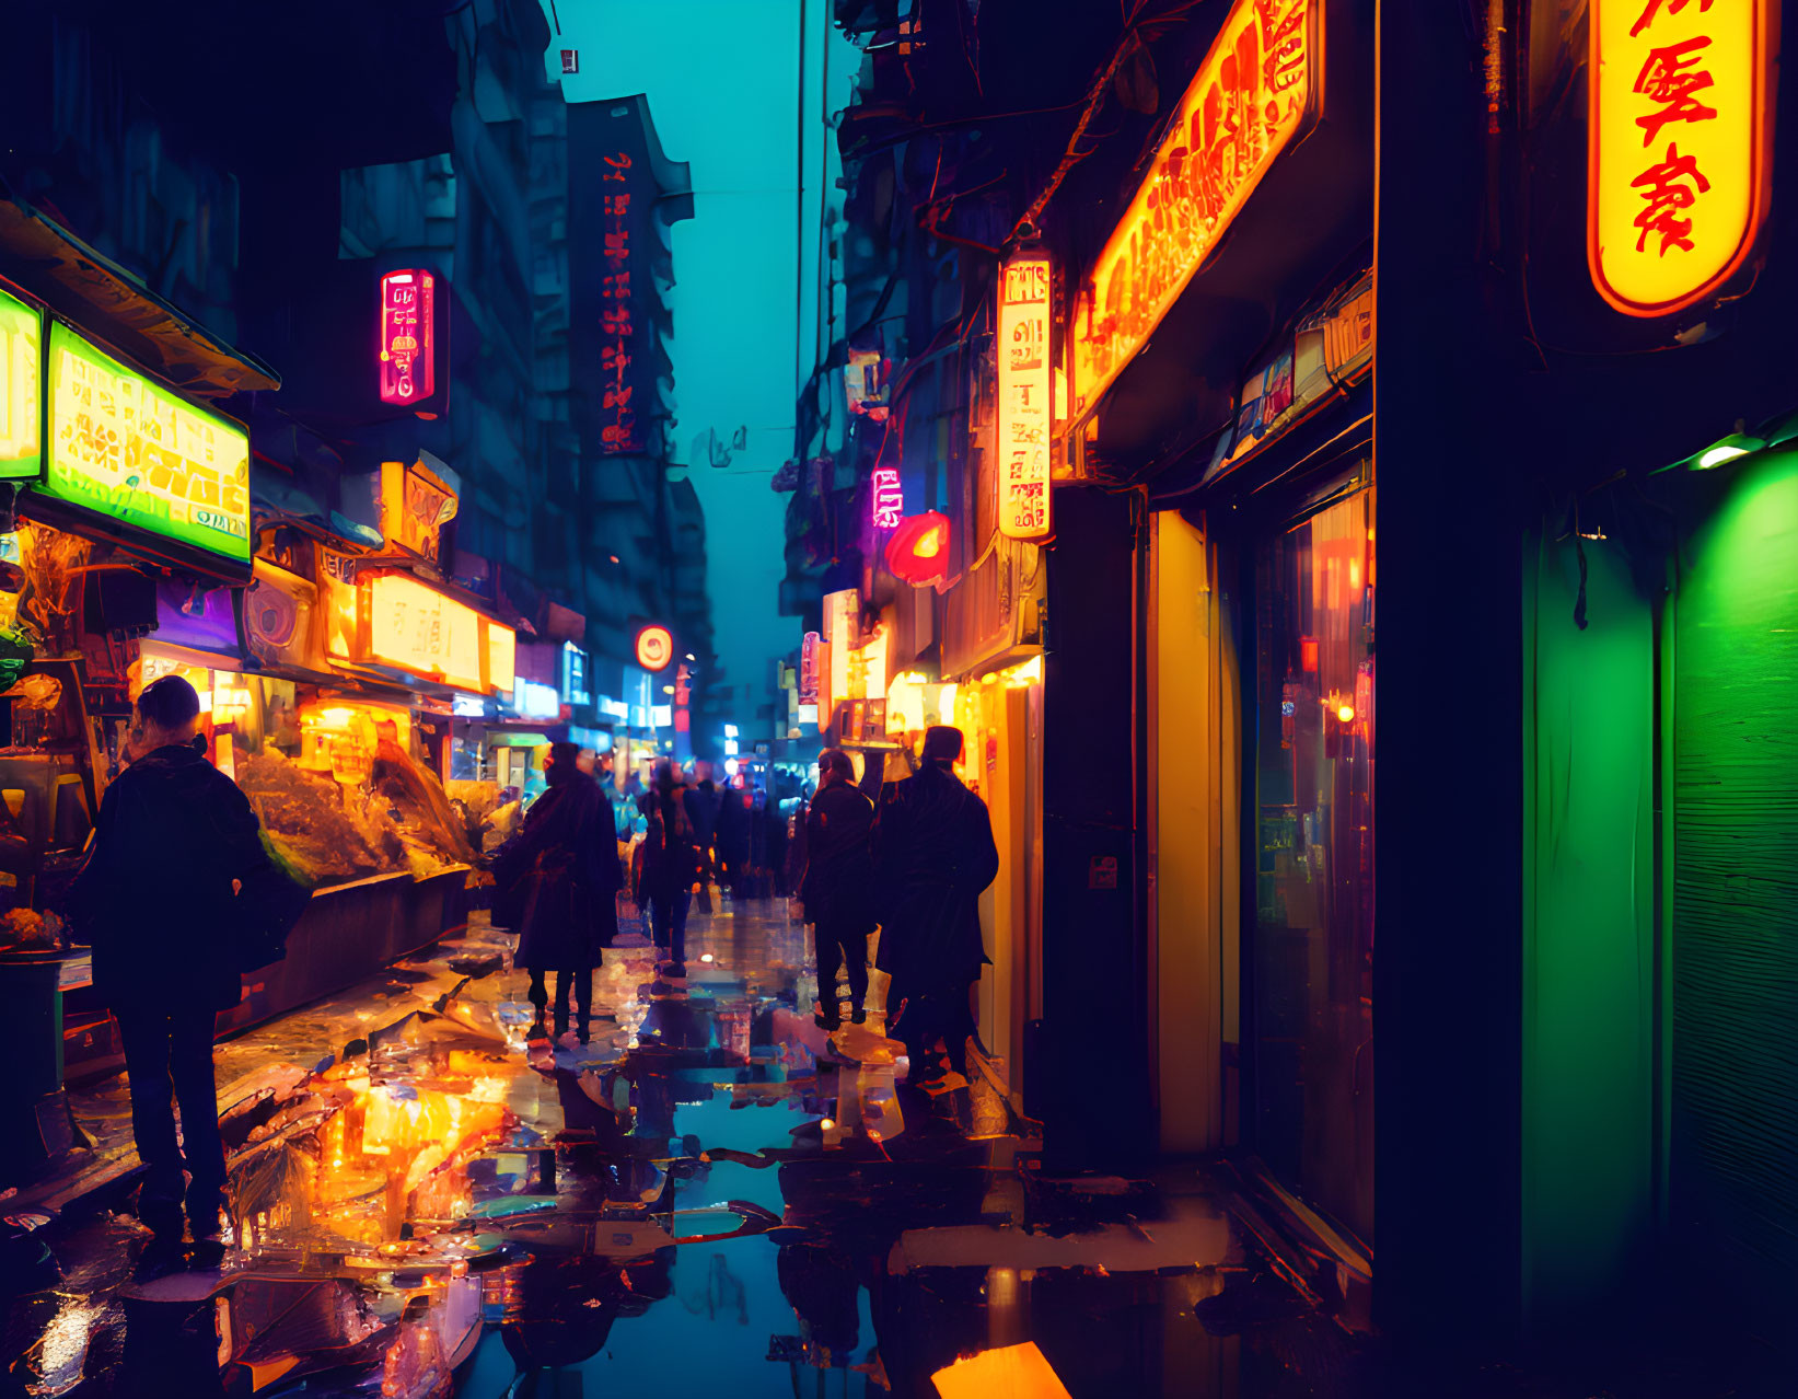
[{"label": "dark sloping awning above the green illuminated signs at left", "polygon": [[[9,191],[0,187],[0,196]],[[200,397],[280,388],[280,376],[18,198],[0,198],[0,270],[52,311]]]}]

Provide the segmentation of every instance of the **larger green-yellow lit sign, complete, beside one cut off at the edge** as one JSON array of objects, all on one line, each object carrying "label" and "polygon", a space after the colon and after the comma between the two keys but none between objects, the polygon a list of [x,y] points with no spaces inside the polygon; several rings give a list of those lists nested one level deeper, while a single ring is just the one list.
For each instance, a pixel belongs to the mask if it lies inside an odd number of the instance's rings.
[{"label": "larger green-yellow lit sign, complete, beside one cut off at the edge", "polygon": [[250,559],[250,435],[50,324],[50,469],[58,500]]}]

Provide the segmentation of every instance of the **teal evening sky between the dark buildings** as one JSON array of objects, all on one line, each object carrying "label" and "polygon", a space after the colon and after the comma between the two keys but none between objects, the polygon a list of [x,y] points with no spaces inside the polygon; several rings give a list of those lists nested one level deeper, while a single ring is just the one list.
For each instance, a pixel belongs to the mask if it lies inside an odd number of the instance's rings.
[{"label": "teal evening sky between the dark buildings", "polygon": [[[807,374],[814,361],[818,196],[838,174],[823,119],[845,106],[859,56],[831,29],[831,0],[543,0],[543,9],[552,31],[561,25],[545,63],[566,99],[647,94],[662,147],[692,165],[694,218],[674,227],[674,459],[687,462],[707,428],[726,442],[750,430],[728,468],[690,462],[717,655],[748,719],[773,683],[773,660],[798,646],[797,619],[779,615],[788,496],[768,482],[793,455],[800,324]],[[795,241],[802,32],[804,257]],[[561,76],[561,49],[579,50],[579,74]],[[825,192],[841,209],[834,183]]]}]

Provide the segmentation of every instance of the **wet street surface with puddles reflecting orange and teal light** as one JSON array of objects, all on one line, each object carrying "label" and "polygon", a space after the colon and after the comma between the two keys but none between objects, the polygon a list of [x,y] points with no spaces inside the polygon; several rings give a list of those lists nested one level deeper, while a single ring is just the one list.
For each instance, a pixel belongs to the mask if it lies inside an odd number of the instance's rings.
[{"label": "wet street surface with puddles reflecting orange and teal light", "polygon": [[[879,978],[832,1043],[784,906],[696,917],[681,982],[608,953],[590,1045],[527,1038],[507,949],[476,926],[219,1047],[219,1257],[146,1252],[117,1167],[14,1203],[9,1392],[1286,1395],[1354,1368],[1192,1171],[1045,1180],[984,1077],[895,1083]],[[74,1099],[117,1162],[122,1083]]]}]

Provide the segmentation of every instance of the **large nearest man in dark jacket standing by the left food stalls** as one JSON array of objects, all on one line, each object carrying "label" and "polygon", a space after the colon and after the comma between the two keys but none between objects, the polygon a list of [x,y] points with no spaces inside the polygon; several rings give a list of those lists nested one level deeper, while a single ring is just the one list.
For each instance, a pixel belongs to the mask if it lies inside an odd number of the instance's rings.
[{"label": "large nearest man in dark jacket standing by the left food stalls", "polygon": [[144,1163],[138,1216],[165,1246],[180,1244],[183,1208],[196,1243],[219,1234],[214,1021],[239,1002],[239,973],[280,955],[309,899],[268,858],[255,811],[207,762],[198,726],[200,696],[185,680],[144,687],[126,739],[129,766],[106,788],[68,894],[76,933],[93,946],[93,985],[124,1041]]}]

